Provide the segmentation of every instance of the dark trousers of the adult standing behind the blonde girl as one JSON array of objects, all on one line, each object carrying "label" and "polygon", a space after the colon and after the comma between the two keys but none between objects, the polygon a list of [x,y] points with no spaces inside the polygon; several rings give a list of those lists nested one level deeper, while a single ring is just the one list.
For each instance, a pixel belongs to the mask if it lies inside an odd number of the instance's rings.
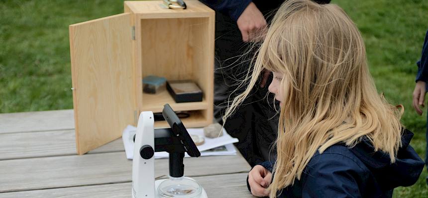
[{"label": "dark trousers of the adult standing behind the blonde girl", "polygon": [[[252,70],[253,54],[247,53],[252,44],[242,41],[236,22],[219,12],[215,16],[214,118],[220,121],[227,101],[246,88],[236,90],[248,70]],[[278,118],[273,95],[266,98],[271,80],[272,77],[264,88],[255,87],[224,125],[230,135],[239,139],[235,146],[251,166],[273,160],[276,155],[272,144],[277,136]]]}]

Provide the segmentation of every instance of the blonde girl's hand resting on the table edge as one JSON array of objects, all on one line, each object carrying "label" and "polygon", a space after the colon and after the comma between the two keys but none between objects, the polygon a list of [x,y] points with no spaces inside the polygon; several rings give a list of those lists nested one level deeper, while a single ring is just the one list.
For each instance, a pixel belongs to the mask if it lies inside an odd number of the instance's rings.
[{"label": "blonde girl's hand resting on the table edge", "polygon": [[256,165],[248,173],[248,184],[251,188],[251,194],[256,197],[269,196],[269,191],[266,187],[269,186],[272,180],[272,173],[261,165]]}]

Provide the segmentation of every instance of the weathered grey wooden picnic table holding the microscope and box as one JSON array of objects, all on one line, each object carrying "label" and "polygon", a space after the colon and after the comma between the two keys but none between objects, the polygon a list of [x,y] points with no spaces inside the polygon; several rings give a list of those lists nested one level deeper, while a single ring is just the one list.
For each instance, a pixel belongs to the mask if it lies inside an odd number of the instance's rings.
[{"label": "weathered grey wooden picnic table holding the microscope and box", "polygon": [[[185,158],[209,198],[252,198],[238,153]],[[168,159],[155,160],[155,176]],[[0,114],[0,198],[130,198],[132,160],[122,139],[76,154],[73,110]]]}]

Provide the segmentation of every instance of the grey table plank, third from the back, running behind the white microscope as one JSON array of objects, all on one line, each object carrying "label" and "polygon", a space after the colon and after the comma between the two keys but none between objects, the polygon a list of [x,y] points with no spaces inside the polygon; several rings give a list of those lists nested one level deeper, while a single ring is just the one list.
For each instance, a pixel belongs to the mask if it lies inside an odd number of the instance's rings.
[{"label": "grey table plank, third from the back, running behind the white microscope", "polygon": [[[187,176],[247,172],[241,155],[185,158]],[[168,174],[168,159],[155,161],[155,175]],[[131,181],[132,161],[124,152],[0,161],[0,193]]]}]

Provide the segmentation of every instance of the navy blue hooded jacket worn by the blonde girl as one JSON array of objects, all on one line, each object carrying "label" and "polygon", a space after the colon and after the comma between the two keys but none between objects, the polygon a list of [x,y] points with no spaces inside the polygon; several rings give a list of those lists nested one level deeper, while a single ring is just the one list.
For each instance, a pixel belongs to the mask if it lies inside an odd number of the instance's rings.
[{"label": "navy blue hooded jacket worn by the blonde girl", "polygon": [[[394,188],[415,184],[424,168],[424,161],[409,145],[412,137],[412,132],[403,132],[403,145],[393,164],[388,154],[374,152],[368,140],[352,148],[332,145],[322,154],[317,152],[301,179],[284,188],[278,197],[391,198]],[[261,165],[272,172],[271,162]]]}]

